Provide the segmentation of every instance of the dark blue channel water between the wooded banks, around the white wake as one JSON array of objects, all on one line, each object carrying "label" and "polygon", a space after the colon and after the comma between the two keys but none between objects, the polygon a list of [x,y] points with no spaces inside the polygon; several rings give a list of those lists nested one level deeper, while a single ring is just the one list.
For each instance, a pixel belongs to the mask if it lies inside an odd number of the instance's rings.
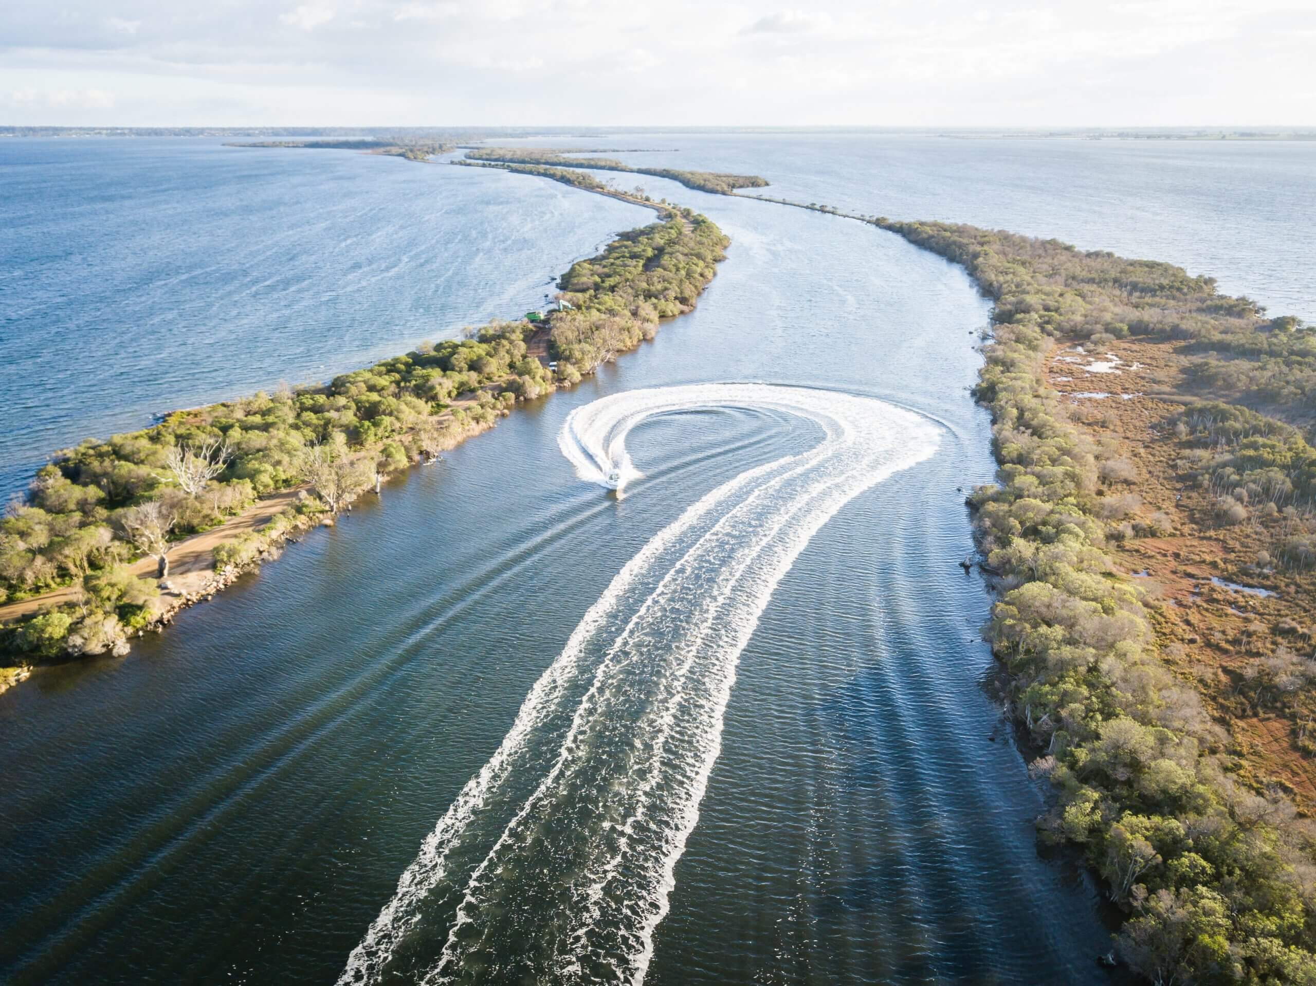
[{"label": "dark blue channel water between the wooded banks, around the white wake", "polygon": [[[542,184],[488,180],[497,195]],[[629,433],[644,475],[619,500],[563,457],[567,416],[641,388],[733,382],[886,402],[934,428],[937,448],[840,506],[758,613],[730,667],[697,819],[670,879],[659,874],[666,914],[641,941],[645,982],[1108,981],[1094,961],[1109,947],[1099,895],[1038,853],[1048,790],[984,687],[976,628],[990,598],[958,566],[963,495],[992,474],[988,423],[967,395],[986,303],[962,271],[880,230],[645,184],[732,237],[696,312],[390,483],[129,658],[43,670],[0,696],[0,977],[340,977],[628,562],[700,498],[820,438],[775,408],[670,409]],[[584,209],[607,201],[563,192]],[[619,228],[647,221],[620,208]],[[716,581],[762,527],[734,517],[726,545],[701,542],[691,578]],[[659,641],[703,599],[661,596],[672,570],[636,588],[637,610],[667,607]],[[742,590],[728,602],[751,602]],[[628,870],[620,916],[570,895],[591,886],[576,881],[594,858],[576,833],[601,831],[590,823],[607,799],[638,803],[649,777],[617,765],[653,708],[645,688],[667,679],[651,663],[632,670],[613,679],[626,700],[596,717],[592,745],[569,750],[578,786],[555,790],[536,837],[491,857],[546,775],[538,761],[517,766],[462,844],[463,866],[492,858],[497,878],[436,885],[382,981],[491,981],[563,941],[590,943],[583,969],[632,968],[624,907],[654,893],[653,873]],[[694,764],[707,735],[675,731],[662,762]],[[557,756],[550,740],[537,749]],[[483,937],[458,931],[449,949],[467,896]]]}]

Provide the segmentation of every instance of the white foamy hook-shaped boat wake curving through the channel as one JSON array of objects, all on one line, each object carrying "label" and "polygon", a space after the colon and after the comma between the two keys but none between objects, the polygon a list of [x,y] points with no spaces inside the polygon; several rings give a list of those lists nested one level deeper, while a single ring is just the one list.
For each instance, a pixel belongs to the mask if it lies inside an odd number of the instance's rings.
[{"label": "white foamy hook-shaped boat wake curving through the channel", "polygon": [[341,983],[395,970],[426,983],[644,979],[759,615],[829,517],[938,437],[870,398],[695,384],[596,400],[558,442],[583,479],[624,486],[640,475],[630,430],[700,408],[795,416],[821,440],[717,487],[622,567],[425,839]]}]

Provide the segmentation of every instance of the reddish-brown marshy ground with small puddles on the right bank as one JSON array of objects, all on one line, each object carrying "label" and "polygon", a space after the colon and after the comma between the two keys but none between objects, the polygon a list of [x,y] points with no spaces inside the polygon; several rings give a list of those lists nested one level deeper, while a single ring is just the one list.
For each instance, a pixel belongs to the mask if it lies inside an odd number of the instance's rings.
[{"label": "reddish-brown marshy ground with small puddles on the right bank", "polygon": [[[1255,673],[1279,648],[1304,657],[1316,652],[1316,571],[1275,567],[1258,575],[1249,566],[1273,540],[1267,525],[1278,520],[1221,525],[1211,496],[1180,471],[1186,445],[1174,436],[1174,419],[1183,404],[1203,395],[1183,387],[1186,359],[1175,345],[1121,340],[1098,349],[1096,358],[1113,353],[1123,361],[1119,374],[1087,371],[1083,363],[1094,357],[1062,345],[1048,357],[1048,383],[1066,395],[1063,403],[1101,449],[1101,458],[1124,461],[1136,471],[1130,484],[1123,466],[1107,470],[1103,492],[1119,496],[1133,490],[1142,507],[1129,520],[1159,512],[1173,524],[1161,536],[1112,542],[1111,556],[1145,590],[1167,665],[1198,688],[1233,737],[1234,752],[1246,765],[1245,779],[1278,787],[1303,814],[1316,814],[1316,760],[1311,756],[1316,752],[1316,699],[1302,690],[1279,702],[1258,699],[1248,687],[1249,669]],[[1112,396],[1076,396],[1095,391]],[[1123,394],[1137,396],[1124,399]],[[1275,595],[1233,591],[1212,583],[1212,577],[1261,584]]]}]

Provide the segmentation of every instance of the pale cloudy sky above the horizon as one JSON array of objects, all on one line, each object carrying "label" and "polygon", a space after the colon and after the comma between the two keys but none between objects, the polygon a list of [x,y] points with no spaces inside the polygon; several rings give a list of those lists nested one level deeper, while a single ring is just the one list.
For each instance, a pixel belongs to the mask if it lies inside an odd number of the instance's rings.
[{"label": "pale cloudy sky above the horizon", "polygon": [[1316,0],[4,0],[0,125],[1316,125]]}]

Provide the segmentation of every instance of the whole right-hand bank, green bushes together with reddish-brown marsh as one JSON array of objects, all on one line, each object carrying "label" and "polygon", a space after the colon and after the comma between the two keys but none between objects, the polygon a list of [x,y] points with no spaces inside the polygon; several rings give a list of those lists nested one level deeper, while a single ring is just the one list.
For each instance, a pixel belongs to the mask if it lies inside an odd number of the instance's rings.
[{"label": "whole right-hand bank, green bushes together with reddish-brown marsh", "polygon": [[[1316,832],[1294,789],[1257,773],[1236,729],[1240,702],[1312,715],[1316,452],[1302,424],[1313,333],[1167,263],[876,222],[962,263],[995,300],[978,396],[992,413],[1000,482],[973,506],[1001,592],[986,632],[1036,746],[1033,769],[1059,794],[1042,832],[1087,853],[1128,914],[1120,954],[1149,979],[1316,983]],[[1082,395],[1055,390],[1082,371],[1084,348],[1120,341],[1144,345],[1159,383],[1173,384],[1100,412],[1132,417],[1142,405],[1141,430],[1124,442],[1117,421],[1105,419],[1104,434],[1084,427]],[[1195,388],[1269,413],[1198,400]],[[1132,461],[1133,444],[1159,458]],[[1163,490],[1165,509],[1140,490]],[[1286,581],[1296,606],[1270,625],[1245,616],[1244,640],[1225,650],[1204,646],[1200,615],[1180,616],[1203,602],[1157,599],[1121,571],[1137,541],[1178,534],[1166,562],[1204,561],[1194,537],[1240,528],[1246,574]],[[1228,557],[1228,538],[1211,550],[1221,544]],[[1179,619],[1198,620],[1186,645],[1167,642]]]}]

